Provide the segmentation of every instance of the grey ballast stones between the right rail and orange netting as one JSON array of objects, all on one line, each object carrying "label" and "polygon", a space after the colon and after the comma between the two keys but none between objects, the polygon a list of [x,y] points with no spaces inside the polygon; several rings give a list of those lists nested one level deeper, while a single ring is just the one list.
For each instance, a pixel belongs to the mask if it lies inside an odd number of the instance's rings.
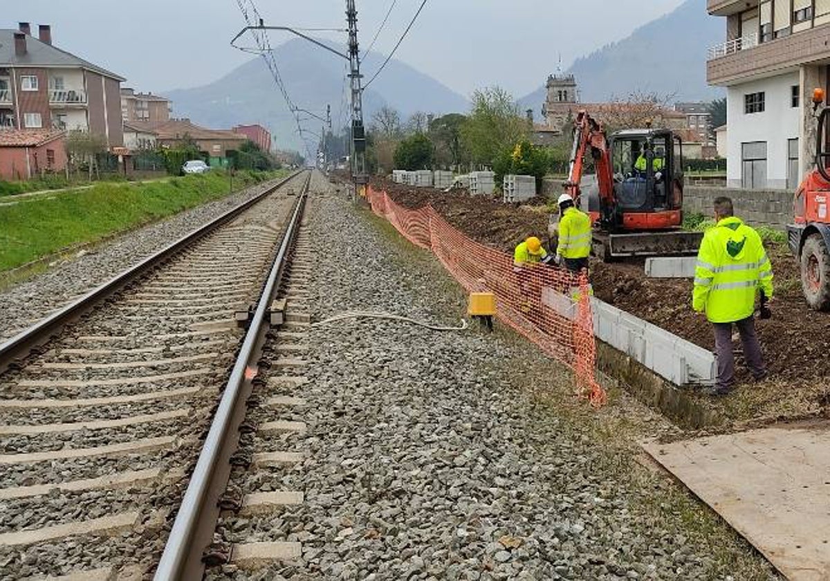
[{"label": "grey ballast stones between the right rail and orange netting", "polygon": [[[317,180],[312,192],[313,321],[386,310],[457,322],[464,297],[432,256],[342,190]],[[267,393],[305,398],[308,431],[254,444],[305,461],[248,481],[305,502],[218,531],[300,541],[302,559],[206,579],[779,579],[634,461],[634,438],[676,428],[618,390],[593,411],[515,334],[353,320],[313,326],[309,344],[310,382]]]}]

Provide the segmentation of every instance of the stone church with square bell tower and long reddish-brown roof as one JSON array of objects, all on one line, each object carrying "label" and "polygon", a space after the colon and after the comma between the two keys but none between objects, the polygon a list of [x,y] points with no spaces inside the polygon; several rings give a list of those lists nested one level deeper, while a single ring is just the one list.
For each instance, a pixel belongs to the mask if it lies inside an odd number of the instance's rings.
[{"label": "stone church with square bell tower and long reddish-brown roof", "polygon": [[544,125],[559,134],[564,133],[569,122],[581,110],[588,111],[588,115],[605,125],[613,126],[621,121],[634,120],[637,125],[645,125],[646,121],[650,121],[653,127],[686,129],[686,114],[650,101],[581,103],[578,97],[579,86],[573,75],[551,75],[545,86],[548,93],[542,105]]}]

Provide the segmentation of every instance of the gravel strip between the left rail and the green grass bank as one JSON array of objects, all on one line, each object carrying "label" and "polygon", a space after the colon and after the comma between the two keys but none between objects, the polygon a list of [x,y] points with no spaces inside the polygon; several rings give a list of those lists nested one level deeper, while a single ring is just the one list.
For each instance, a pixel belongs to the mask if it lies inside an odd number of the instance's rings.
[{"label": "gravel strip between the left rail and the green grass bank", "polygon": [[0,341],[125,271],[195,228],[253,198],[273,182],[260,183],[227,198],[181,212],[161,222],[57,259],[48,270],[0,291]]}]

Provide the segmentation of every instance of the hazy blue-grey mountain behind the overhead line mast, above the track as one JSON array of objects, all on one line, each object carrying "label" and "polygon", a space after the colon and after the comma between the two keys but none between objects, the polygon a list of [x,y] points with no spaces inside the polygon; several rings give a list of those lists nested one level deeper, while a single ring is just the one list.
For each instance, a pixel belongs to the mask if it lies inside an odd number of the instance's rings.
[{"label": "hazy blue-grey mountain behind the overhead line mast, above the track", "polygon": [[[330,46],[344,50],[342,46]],[[275,57],[295,105],[322,117],[325,117],[326,105],[331,105],[336,132],[338,121],[349,118],[349,86],[344,85],[348,81],[344,81],[348,63],[300,39],[276,47]],[[375,52],[364,58],[361,66],[364,83],[385,58]],[[248,61],[209,85],[171,90],[164,96],[173,100],[173,115],[177,117],[188,117],[198,125],[212,128],[261,123],[271,130],[279,147],[305,152],[288,105],[261,57]],[[389,61],[383,73],[364,91],[364,120],[369,122],[374,111],[387,104],[400,111],[403,120],[416,111],[440,115],[466,111],[470,107],[461,95],[395,59]],[[304,127],[319,133],[321,125],[322,122],[311,120]]]}]

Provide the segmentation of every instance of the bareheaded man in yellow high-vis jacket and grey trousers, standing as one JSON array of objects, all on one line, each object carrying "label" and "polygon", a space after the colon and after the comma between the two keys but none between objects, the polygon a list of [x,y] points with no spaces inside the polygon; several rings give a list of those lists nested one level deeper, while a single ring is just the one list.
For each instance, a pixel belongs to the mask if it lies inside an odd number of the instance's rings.
[{"label": "bareheaded man in yellow high-vis jacket and grey trousers, standing", "polygon": [[773,300],[773,269],[758,232],[733,216],[730,198],[715,199],[717,225],[706,231],[697,254],[692,306],[715,325],[718,377],[713,393],[730,392],[735,379],[732,325],[738,327],[753,377],[766,377],[755,333],[755,298]]}]

